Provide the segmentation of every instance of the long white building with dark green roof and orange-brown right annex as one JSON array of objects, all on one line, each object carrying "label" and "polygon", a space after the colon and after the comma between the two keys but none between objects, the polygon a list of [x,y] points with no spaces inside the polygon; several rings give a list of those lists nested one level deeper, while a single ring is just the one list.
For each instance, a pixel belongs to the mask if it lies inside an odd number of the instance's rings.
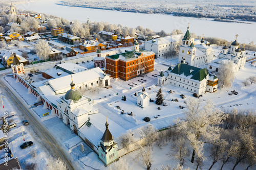
[{"label": "long white building with dark green roof and orange-brown right annex", "polygon": [[218,88],[218,78],[209,74],[206,68],[198,68],[180,63],[173,69],[162,71],[157,78],[157,84],[173,85],[197,94],[215,92]]}]

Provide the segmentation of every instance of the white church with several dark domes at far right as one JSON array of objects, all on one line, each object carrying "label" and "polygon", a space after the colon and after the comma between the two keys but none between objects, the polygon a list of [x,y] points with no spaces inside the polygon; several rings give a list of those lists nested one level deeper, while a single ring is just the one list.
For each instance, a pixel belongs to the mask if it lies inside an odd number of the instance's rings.
[{"label": "white church with several dark domes at far right", "polygon": [[229,47],[226,45],[222,47],[221,53],[218,55],[218,59],[213,60],[211,63],[207,64],[207,69],[212,72],[218,72],[220,65],[222,63],[232,61],[233,71],[237,72],[240,69],[244,69],[246,62],[245,48],[240,48],[239,42],[237,41],[238,35],[236,35],[236,40],[234,40]]}]

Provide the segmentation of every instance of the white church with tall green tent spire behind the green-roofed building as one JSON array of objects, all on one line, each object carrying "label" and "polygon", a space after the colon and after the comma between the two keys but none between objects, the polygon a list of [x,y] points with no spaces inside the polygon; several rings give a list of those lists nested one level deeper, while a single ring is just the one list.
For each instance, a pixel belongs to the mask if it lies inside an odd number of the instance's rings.
[{"label": "white church with tall green tent spire behind the green-roofed building", "polygon": [[200,44],[195,44],[194,40],[195,38],[191,38],[189,27],[187,27],[187,32],[180,45],[179,63],[197,67],[211,62],[214,58],[212,47],[206,45],[203,38]]}]

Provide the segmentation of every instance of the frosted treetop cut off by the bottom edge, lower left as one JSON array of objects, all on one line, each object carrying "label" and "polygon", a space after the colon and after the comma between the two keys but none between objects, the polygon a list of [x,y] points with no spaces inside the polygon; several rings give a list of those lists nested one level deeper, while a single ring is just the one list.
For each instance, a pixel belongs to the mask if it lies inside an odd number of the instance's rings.
[{"label": "frosted treetop cut off by the bottom edge, lower left", "polygon": [[60,158],[54,159],[52,156],[50,156],[47,160],[47,165],[45,166],[44,170],[67,170],[67,166],[65,162],[63,162]]}]

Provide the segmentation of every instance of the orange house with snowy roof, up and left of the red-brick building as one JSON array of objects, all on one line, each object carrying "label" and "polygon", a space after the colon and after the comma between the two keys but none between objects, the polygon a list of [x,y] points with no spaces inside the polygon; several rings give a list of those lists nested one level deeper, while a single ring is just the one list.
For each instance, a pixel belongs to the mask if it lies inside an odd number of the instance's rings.
[{"label": "orange house with snowy roof, up and left of the red-brick building", "polygon": [[79,49],[84,52],[95,52],[97,49],[105,50],[106,44],[94,40],[84,41],[79,44]]}]

